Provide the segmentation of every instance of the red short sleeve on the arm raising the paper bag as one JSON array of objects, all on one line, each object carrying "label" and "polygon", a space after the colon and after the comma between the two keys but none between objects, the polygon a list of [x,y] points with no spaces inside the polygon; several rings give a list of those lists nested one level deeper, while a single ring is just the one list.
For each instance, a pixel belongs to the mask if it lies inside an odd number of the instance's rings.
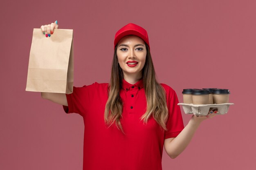
[{"label": "red short sleeve on the arm raising the paper bag", "polygon": [[86,112],[85,108],[90,106],[90,90],[92,90],[92,85],[73,86],[73,93],[66,94],[68,106],[63,105],[65,113],[78,113],[83,116]]}]

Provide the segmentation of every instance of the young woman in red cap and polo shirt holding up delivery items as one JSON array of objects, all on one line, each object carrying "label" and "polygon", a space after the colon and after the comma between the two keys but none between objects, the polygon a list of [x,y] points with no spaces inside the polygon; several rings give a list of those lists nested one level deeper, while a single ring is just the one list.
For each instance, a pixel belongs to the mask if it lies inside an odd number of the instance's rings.
[{"label": "young woman in red cap and polo shirt holding up delivery items", "polygon": [[[41,26],[48,38],[56,28],[57,21]],[[162,170],[163,146],[177,157],[200,123],[215,116],[193,115],[184,127],[175,91],[155,78],[147,31],[132,23],[115,34],[110,83],[42,97],[83,117],[84,170]]]}]

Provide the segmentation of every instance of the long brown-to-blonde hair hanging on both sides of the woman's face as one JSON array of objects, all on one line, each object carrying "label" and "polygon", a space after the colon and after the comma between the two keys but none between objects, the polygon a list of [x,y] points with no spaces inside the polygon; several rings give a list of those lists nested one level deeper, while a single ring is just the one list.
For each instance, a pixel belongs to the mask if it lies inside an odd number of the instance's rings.
[{"label": "long brown-to-blonde hair hanging on both sides of the woman's face", "polygon": [[[145,43],[146,44],[146,43]],[[141,116],[144,124],[147,123],[151,115],[155,121],[166,129],[166,121],[168,119],[168,108],[166,104],[165,90],[156,80],[155,69],[150,55],[148,44],[146,44],[146,61],[142,69],[143,86],[147,100],[147,110]],[[111,79],[108,84],[108,101],[105,106],[104,120],[105,123],[111,126],[114,122],[117,128],[124,133],[120,119],[122,117],[123,103],[120,97],[122,88],[122,80],[124,78],[123,71],[118,63],[117,46],[115,46],[114,56],[112,60]],[[124,133],[125,134],[125,133]]]}]

